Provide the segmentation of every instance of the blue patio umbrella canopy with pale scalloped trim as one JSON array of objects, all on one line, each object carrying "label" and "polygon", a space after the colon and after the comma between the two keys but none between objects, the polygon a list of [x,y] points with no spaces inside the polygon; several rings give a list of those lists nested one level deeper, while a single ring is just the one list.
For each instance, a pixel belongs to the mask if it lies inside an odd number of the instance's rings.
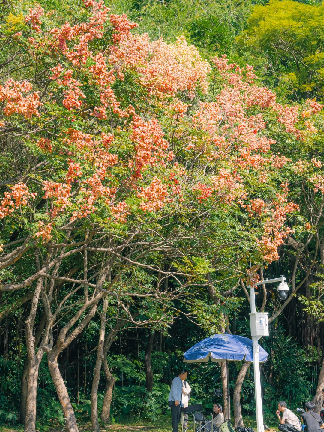
[{"label": "blue patio umbrella canopy with pale scalloped trim", "polygon": [[[259,346],[260,363],[268,359],[268,353]],[[234,334],[214,334],[196,343],[184,353],[186,363],[253,362],[252,340]]]}]

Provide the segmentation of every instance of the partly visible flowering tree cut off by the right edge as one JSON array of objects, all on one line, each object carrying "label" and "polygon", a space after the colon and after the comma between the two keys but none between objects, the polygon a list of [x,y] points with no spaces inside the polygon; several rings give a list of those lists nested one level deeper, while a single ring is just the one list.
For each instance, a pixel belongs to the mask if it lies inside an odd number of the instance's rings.
[{"label": "partly visible flowering tree cut off by the right edge", "polygon": [[[302,116],[308,118],[311,109],[307,106]],[[323,119],[317,119],[316,126],[322,127]],[[299,301],[306,313],[306,319],[314,324],[319,334],[319,323],[323,321],[323,165],[321,159],[321,137],[297,145],[298,155],[290,166],[292,199],[299,203],[300,215],[294,219],[295,229],[286,239],[282,248],[282,255],[290,264],[292,271],[289,283],[292,286],[292,295],[280,305],[275,305],[275,311],[270,320],[276,319],[292,301]],[[306,285],[307,284],[307,285]],[[299,293],[303,286],[305,295]],[[308,291],[308,293],[307,293]],[[270,321],[269,320],[269,321]],[[308,326],[307,326],[308,327]],[[318,387],[313,401],[316,410],[321,410],[324,386],[324,362],[318,378]]]}]

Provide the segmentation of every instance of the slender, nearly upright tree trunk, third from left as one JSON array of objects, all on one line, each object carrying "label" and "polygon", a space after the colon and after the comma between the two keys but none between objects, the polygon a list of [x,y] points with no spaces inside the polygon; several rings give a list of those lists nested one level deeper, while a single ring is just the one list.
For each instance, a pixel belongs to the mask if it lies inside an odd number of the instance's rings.
[{"label": "slender, nearly upright tree trunk, third from left", "polygon": [[101,364],[104,358],[104,341],[105,341],[107,308],[108,308],[108,299],[105,298],[102,306],[97,360],[95,362],[95,370],[94,370],[92,390],[91,390],[91,424],[92,424],[93,432],[100,432],[99,422],[98,422],[98,385],[100,381]]}]

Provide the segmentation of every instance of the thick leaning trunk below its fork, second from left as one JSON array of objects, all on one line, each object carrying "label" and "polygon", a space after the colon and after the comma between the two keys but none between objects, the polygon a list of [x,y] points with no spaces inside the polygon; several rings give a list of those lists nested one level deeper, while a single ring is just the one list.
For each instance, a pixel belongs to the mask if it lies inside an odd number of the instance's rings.
[{"label": "thick leaning trunk below its fork, second from left", "polygon": [[60,369],[58,368],[57,357],[52,358],[51,355],[48,356],[48,368],[57,391],[57,396],[60,400],[64,419],[66,419],[67,431],[79,432],[70,397],[62,375],[60,374]]}]

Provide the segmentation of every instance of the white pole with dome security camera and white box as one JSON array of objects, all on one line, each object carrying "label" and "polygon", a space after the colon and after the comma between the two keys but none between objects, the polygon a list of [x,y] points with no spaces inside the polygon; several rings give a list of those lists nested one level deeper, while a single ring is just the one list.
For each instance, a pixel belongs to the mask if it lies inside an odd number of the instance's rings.
[{"label": "white pole with dome security camera and white box", "polygon": [[[289,291],[289,286],[285,282],[285,276],[278,277],[276,279],[262,280],[255,285],[263,285],[266,283],[280,282],[278,286],[280,299],[286,299]],[[250,301],[251,301],[251,313],[250,325],[251,325],[251,336],[252,336],[252,347],[253,347],[253,368],[254,368],[254,391],[255,391],[255,407],[257,413],[257,432],[264,432],[263,423],[263,412],[262,412],[262,397],[261,397],[261,379],[260,379],[260,363],[259,363],[259,346],[258,340],[262,336],[269,336],[268,326],[268,312],[259,313],[255,308],[255,294],[254,288],[248,285],[250,288]]]}]

